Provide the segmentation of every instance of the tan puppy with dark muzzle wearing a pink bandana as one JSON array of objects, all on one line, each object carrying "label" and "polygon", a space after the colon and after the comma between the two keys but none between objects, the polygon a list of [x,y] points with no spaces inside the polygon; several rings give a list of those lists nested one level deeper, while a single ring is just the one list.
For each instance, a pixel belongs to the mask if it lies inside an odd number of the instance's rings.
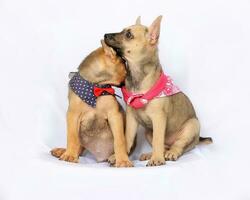
[{"label": "tan puppy with dark muzzle wearing a pink bandana", "polygon": [[157,51],[161,19],[162,16],[157,17],[147,27],[141,25],[139,17],[135,25],[122,32],[104,35],[106,44],[127,62],[125,87],[122,88],[128,105],[127,151],[130,152],[141,124],[152,145],[152,153],[140,156],[140,160],[149,159],[147,166],[176,160],[201,140],[211,142],[211,138],[199,137],[200,123],[190,100],[162,70]]}]

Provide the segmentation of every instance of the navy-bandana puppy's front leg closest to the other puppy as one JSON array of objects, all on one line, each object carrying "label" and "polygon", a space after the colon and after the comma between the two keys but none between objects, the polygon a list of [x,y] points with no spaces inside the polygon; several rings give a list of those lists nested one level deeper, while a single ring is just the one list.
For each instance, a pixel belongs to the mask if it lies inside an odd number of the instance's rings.
[{"label": "navy-bandana puppy's front leg closest to the other puppy", "polygon": [[122,114],[119,111],[109,112],[108,121],[114,136],[115,166],[133,167],[126,151]]}]

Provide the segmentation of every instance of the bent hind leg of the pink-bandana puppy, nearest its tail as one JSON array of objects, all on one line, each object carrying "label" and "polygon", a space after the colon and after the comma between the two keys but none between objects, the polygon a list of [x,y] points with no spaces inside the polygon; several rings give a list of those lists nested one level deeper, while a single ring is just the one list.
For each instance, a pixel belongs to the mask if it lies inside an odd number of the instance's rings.
[{"label": "bent hind leg of the pink-bandana puppy, nearest its tail", "polygon": [[199,142],[200,123],[196,118],[189,119],[178,133],[176,141],[165,152],[166,160],[177,160],[183,153],[193,149]]}]

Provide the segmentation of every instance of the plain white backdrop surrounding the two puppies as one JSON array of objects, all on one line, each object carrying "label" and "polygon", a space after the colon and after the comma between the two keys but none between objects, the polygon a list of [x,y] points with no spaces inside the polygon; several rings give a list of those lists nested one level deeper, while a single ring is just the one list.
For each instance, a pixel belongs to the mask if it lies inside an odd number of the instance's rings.
[{"label": "plain white backdrop surrounding the two puppies", "polygon": [[[0,200],[250,199],[249,0],[0,0]],[[191,98],[199,146],[177,162],[133,169],[49,155],[65,146],[68,73],[104,33],[163,15],[160,59]],[[139,134],[142,136],[142,134]]]}]

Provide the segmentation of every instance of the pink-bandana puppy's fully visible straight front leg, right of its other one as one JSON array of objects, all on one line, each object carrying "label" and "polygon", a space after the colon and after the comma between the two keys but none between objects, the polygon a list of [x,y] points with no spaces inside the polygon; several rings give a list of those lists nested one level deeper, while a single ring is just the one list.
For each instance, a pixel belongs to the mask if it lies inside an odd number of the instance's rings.
[{"label": "pink-bandana puppy's fully visible straight front leg, right of its other one", "polygon": [[164,138],[167,125],[166,114],[157,112],[157,114],[152,114],[150,117],[153,123],[153,152],[147,166],[164,165]]}]

